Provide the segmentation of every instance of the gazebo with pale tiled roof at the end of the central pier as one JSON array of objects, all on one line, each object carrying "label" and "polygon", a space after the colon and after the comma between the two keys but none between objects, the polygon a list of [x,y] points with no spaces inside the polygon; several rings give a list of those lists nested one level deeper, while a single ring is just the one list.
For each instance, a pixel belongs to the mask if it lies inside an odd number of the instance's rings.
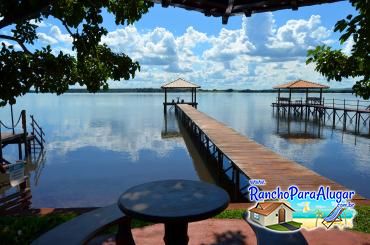
[{"label": "gazebo with pale tiled roof at the end of the central pier", "polygon": [[[200,88],[200,86],[197,84],[188,82],[182,78],[178,78],[175,81],[162,85],[161,88],[164,89],[164,102],[163,102],[164,113],[167,112],[167,106],[174,106],[176,104],[188,104],[196,108],[198,105],[197,89]],[[173,99],[171,102],[167,102],[167,90],[173,91],[190,90],[191,101],[184,101],[183,99],[180,99],[180,97],[177,97],[177,101]]]}]

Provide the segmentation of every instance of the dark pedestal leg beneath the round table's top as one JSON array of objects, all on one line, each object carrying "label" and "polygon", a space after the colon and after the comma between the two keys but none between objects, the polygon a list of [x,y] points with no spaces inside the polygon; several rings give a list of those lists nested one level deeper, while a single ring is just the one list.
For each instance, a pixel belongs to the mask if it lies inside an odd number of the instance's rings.
[{"label": "dark pedestal leg beneath the round table's top", "polygon": [[166,245],[187,245],[188,223],[165,223],[164,242]]}]

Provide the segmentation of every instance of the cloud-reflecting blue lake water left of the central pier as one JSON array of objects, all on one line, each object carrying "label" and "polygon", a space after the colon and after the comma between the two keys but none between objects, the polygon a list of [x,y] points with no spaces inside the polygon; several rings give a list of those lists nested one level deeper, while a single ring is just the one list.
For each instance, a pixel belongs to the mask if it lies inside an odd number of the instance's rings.
[{"label": "cloud-reflecting blue lake water left of the central pier", "polygon": [[[37,115],[48,141],[45,167],[33,172],[37,181],[30,179],[32,206],[103,206],[137,184],[199,179],[183,139],[162,139],[162,99],[161,94],[20,99],[17,108]],[[168,129],[175,125],[172,119],[167,123]],[[15,150],[4,154],[11,157]]]}]

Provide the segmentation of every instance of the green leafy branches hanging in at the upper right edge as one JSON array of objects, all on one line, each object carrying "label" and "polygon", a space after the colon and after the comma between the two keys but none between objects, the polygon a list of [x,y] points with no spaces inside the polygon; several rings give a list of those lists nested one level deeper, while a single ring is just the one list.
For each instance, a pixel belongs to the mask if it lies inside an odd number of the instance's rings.
[{"label": "green leafy branches hanging in at the upper right edge", "polygon": [[333,50],[322,45],[307,53],[307,64],[315,63],[315,70],[324,75],[328,81],[341,81],[342,78],[357,79],[353,91],[364,99],[370,97],[370,0],[350,0],[358,11],[357,16],[348,15],[335,24],[335,32],[342,35],[343,44],[353,38],[350,55],[341,50]]}]

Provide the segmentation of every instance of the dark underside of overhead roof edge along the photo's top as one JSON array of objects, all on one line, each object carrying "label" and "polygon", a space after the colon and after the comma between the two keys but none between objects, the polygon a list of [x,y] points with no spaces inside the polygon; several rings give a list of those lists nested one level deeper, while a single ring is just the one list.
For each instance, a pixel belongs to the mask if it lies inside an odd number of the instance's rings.
[{"label": "dark underside of overhead roof edge along the photo's top", "polygon": [[187,10],[195,10],[204,13],[206,16],[222,16],[222,23],[227,24],[229,16],[241,15],[249,17],[254,13],[270,12],[280,9],[297,10],[299,7],[315,4],[339,2],[343,0],[150,0],[168,6],[180,7]]}]

